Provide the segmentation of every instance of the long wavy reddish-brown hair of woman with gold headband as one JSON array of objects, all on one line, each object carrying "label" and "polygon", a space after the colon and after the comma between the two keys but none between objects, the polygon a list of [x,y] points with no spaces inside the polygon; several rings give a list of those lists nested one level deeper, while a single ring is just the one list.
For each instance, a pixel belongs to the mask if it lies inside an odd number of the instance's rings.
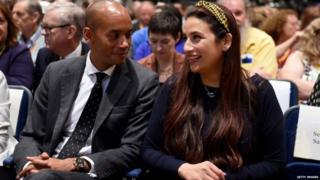
[{"label": "long wavy reddish-brown hair of woman with gold headband", "polygon": [[[239,168],[243,164],[238,147],[244,130],[243,109],[251,107],[248,106],[251,87],[240,64],[237,23],[229,10],[220,7],[228,20],[232,45],[224,54],[219,87],[221,96],[212,114],[208,136],[202,136],[204,109],[199,90],[203,87],[200,75],[191,72],[188,62],[185,62],[171,93],[172,103],[164,123],[164,148],[169,154],[189,163],[209,160],[218,166]],[[218,42],[228,33],[204,8],[194,8],[187,14],[186,18],[189,17],[206,22]]]}]

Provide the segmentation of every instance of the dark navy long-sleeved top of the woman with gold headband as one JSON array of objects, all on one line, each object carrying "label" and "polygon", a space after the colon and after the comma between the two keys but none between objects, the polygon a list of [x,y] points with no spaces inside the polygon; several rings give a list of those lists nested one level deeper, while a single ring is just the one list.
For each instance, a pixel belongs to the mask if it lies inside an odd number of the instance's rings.
[{"label": "dark navy long-sleeved top of the woman with gold headband", "polygon": [[[243,166],[237,170],[219,167],[226,179],[277,179],[281,178],[285,165],[283,114],[272,86],[258,75],[251,78],[257,88],[252,131],[242,134],[239,149]],[[178,168],[185,163],[164,151],[163,124],[170,105],[173,83],[165,83],[153,107],[149,127],[142,146],[143,164],[148,169],[148,179],[178,179]],[[219,89],[207,87],[216,96],[210,98],[204,87],[204,126],[209,126],[212,110],[220,97]],[[187,98],[187,97],[186,97]],[[174,101],[172,101],[174,102]],[[212,109],[211,109],[212,108]],[[245,123],[248,126],[248,123]],[[248,144],[251,144],[248,146]]]}]

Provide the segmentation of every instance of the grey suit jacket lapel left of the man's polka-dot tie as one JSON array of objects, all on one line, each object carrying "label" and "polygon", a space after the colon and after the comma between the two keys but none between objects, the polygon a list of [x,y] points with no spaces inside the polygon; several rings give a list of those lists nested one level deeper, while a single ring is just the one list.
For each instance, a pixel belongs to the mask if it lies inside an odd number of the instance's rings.
[{"label": "grey suit jacket lapel left of the man's polka-dot tie", "polygon": [[58,143],[60,139],[59,136],[63,134],[61,131],[64,127],[64,123],[69,117],[71,107],[79,92],[79,84],[82,79],[86,62],[85,59],[86,56],[72,59],[75,62],[69,64],[68,69],[61,76],[60,109],[52,135],[54,142],[52,142],[53,146],[51,147],[56,147],[57,144],[55,143]]}]

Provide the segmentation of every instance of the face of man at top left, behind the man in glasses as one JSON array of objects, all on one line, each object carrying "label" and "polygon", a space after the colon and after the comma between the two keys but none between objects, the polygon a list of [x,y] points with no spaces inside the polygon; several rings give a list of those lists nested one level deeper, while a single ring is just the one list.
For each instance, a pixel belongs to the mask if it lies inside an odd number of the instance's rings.
[{"label": "face of man at top left, behind the man in glasses", "polygon": [[[37,16],[35,13],[27,11],[27,2],[17,2],[12,9],[12,17],[22,34],[30,33],[37,26]],[[32,32],[34,33],[34,32]]]}]

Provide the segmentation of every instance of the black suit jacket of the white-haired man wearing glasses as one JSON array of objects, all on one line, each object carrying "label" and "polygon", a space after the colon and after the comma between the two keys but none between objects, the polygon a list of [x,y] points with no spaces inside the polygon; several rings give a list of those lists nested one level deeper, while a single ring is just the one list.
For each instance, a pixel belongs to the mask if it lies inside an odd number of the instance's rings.
[{"label": "black suit jacket of the white-haired man wearing glasses", "polygon": [[[89,52],[90,47],[86,43],[81,43],[81,44],[82,44],[81,55],[85,55]],[[39,50],[37,59],[36,59],[36,66],[34,70],[34,85],[33,85],[34,90],[37,89],[47,66],[52,62],[58,61],[59,58],[60,58],[59,55],[53,53],[46,47],[41,48]]]}]

